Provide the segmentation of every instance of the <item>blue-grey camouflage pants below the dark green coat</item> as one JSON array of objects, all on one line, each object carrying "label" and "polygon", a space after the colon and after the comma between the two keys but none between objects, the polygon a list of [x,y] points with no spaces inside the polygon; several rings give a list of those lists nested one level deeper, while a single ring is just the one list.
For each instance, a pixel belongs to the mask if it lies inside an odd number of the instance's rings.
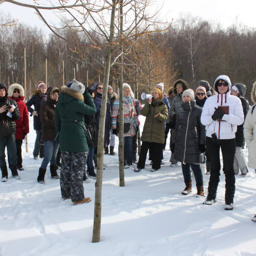
[{"label": "blue-grey camouflage pants below the dark green coat", "polygon": [[72,202],[82,201],[83,175],[88,152],[61,152],[60,191],[62,198],[71,196]]}]

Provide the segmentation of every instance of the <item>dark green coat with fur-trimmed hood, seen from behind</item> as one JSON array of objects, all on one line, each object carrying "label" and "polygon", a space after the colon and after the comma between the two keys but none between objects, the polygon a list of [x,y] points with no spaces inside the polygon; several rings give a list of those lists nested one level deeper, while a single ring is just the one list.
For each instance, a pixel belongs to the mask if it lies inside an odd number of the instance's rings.
[{"label": "dark green coat with fur-trimmed hood, seen from behind", "polygon": [[85,97],[88,104],[84,103],[82,94],[66,86],[61,87],[55,110],[55,129],[56,133],[59,132],[61,151],[88,151],[86,132],[81,126],[84,126],[84,115],[94,115],[96,107],[89,93]]}]

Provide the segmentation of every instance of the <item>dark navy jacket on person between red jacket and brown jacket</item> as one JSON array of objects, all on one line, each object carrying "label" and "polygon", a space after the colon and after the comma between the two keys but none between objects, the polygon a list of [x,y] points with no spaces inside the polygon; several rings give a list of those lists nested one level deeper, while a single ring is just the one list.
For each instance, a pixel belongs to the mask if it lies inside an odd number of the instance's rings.
[{"label": "dark navy jacket on person between red jacket and brown jacket", "polygon": [[[33,119],[34,119],[34,130],[36,130],[36,131],[40,131],[41,128],[42,128],[41,120],[40,120],[40,117],[39,117],[39,110],[40,110],[41,103],[44,102],[44,99],[43,99],[44,97],[46,97],[46,94],[45,95],[39,95],[39,90],[35,90],[34,91],[34,95],[26,103],[27,110],[29,110],[29,112],[31,114],[32,114],[33,111],[37,111],[38,112],[38,116],[33,116]],[[32,105],[34,105],[34,109],[31,108]]]}]

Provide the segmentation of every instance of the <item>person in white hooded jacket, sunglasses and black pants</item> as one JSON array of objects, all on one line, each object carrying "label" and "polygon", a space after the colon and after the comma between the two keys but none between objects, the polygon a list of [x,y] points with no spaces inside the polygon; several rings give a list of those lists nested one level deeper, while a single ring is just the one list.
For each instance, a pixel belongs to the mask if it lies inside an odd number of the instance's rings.
[{"label": "person in white hooded jacket, sunglasses and black pants", "polygon": [[223,172],[225,174],[225,210],[233,210],[235,191],[234,153],[236,152],[237,125],[244,122],[244,112],[238,97],[230,94],[231,82],[226,75],[220,75],[214,82],[214,96],[207,98],[203,106],[201,123],[206,128],[206,147],[210,154],[211,172],[207,199],[203,204],[216,202],[221,175],[219,150],[222,150]]}]

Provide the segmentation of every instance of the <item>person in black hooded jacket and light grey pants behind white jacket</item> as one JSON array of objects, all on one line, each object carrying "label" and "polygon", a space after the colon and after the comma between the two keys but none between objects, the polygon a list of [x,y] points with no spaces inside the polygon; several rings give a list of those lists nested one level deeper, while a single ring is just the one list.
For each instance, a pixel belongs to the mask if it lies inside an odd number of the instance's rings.
[{"label": "person in black hooded jacket and light grey pants behind white jacket", "polygon": [[[250,109],[250,105],[245,98],[246,86],[243,83],[236,83],[231,87],[231,95],[237,96],[243,106],[244,118]],[[245,177],[248,173],[248,169],[245,163],[245,157],[243,148],[245,147],[245,137],[244,137],[244,123],[237,126],[236,132],[236,153],[234,153],[234,174],[241,171],[241,176]]]}]

